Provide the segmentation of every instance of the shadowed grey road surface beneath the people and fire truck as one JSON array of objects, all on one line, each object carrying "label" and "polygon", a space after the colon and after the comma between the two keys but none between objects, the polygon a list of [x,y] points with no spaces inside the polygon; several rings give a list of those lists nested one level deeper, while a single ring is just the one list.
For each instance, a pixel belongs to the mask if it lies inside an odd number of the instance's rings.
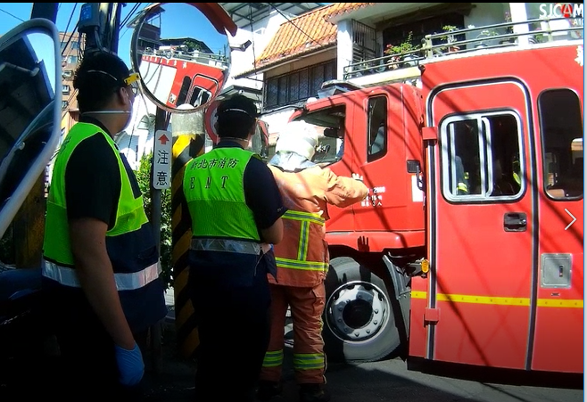
[{"label": "shadowed grey road surface beneath the people and fire truck", "polygon": [[[161,373],[148,374],[152,384],[147,395],[149,402],[193,402],[191,387],[195,363],[174,356],[174,350],[174,340],[168,338],[163,345]],[[285,390],[281,398],[274,400],[297,402],[292,350],[285,350]],[[470,380],[439,374],[409,371],[400,358],[361,365],[331,364],[327,371],[327,387],[333,402],[583,402],[583,376],[516,379],[508,374],[506,378],[492,378],[502,383],[492,383],[475,378],[479,374],[470,369],[467,369]],[[465,373],[454,375],[462,378]],[[509,383],[504,384],[504,381]],[[229,381],[227,386],[230,386]],[[218,400],[222,400],[221,393]]]}]

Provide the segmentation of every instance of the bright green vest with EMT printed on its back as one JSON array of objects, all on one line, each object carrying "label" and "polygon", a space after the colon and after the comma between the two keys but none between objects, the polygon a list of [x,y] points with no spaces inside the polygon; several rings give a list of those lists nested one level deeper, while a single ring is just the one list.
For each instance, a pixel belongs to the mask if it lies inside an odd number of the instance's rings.
[{"label": "bright green vest with EMT printed on its back", "polygon": [[217,148],[186,165],[183,189],[194,238],[260,242],[244,197],[244,168],[253,152]]}]

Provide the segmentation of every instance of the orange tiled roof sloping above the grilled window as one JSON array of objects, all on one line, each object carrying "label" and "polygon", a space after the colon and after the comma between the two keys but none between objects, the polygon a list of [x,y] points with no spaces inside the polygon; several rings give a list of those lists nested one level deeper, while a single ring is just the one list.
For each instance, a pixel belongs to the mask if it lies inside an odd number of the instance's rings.
[{"label": "orange tiled roof sloping above the grilled window", "polygon": [[320,48],[335,45],[336,25],[328,22],[327,18],[370,4],[373,3],[333,3],[285,21],[255,60],[256,68],[265,68],[303,53],[313,53]]}]

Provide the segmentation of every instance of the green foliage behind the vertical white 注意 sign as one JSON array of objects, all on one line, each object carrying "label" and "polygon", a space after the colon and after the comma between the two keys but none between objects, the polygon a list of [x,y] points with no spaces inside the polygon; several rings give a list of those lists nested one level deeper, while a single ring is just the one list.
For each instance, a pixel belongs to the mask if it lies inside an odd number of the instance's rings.
[{"label": "green foliage behind the vertical white \u6ce8\u610f sign", "polygon": [[[145,212],[151,220],[153,210],[151,197],[151,160],[153,154],[144,155],[136,170],[136,180],[143,193]],[[173,264],[171,262],[171,190],[161,190],[161,277],[166,289],[173,285]]]}]

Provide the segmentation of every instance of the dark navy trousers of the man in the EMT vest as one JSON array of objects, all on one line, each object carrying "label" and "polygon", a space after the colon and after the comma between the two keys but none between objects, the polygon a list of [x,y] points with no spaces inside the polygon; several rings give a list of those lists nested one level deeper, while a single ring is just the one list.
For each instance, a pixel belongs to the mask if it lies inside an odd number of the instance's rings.
[{"label": "dark navy trousers of the man in the EMT vest", "polygon": [[[246,272],[227,253],[202,253],[198,259],[205,265],[194,262],[188,279],[200,340],[194,400],[253,402],[269,345],[268,258],[260,257],[254,272]],[[215,258],[221,261],[214,264]]]}]

